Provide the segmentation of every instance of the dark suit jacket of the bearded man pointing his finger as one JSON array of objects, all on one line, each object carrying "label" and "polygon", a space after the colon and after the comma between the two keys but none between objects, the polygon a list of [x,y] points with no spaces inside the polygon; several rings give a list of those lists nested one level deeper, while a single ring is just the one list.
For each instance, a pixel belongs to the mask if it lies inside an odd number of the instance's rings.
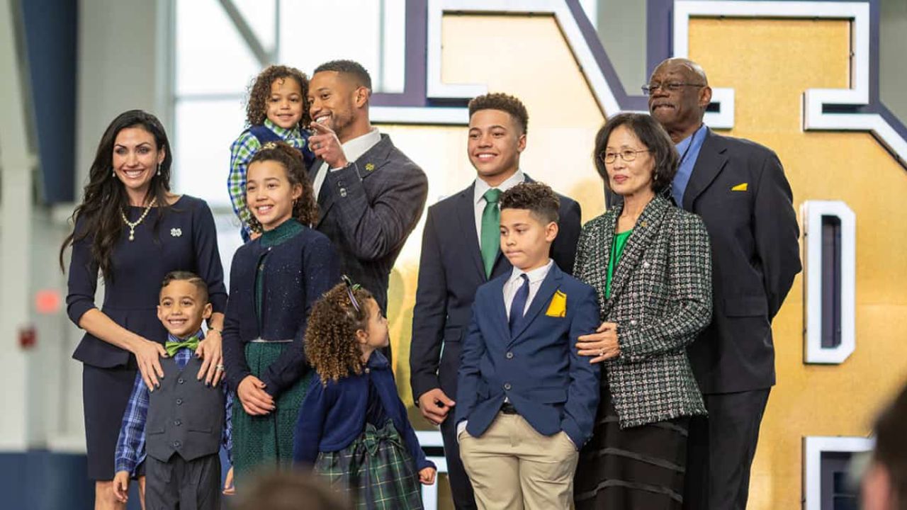
[{"label": "dark suit jacket of the bearded man pointing his finger", "polygon": [[[312,165],[320,167],[321,160]],[[340,272],[375,294],[385,313],[388,277],[427,195],[425,173],[386,134],[346,168],[327,172],[318,195],[316,228],[334,242]]]}]

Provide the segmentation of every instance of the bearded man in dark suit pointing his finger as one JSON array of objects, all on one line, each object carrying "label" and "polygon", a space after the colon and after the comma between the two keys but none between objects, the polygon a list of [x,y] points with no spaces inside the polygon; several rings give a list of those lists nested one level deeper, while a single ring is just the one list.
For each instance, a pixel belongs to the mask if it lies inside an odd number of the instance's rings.
[{"label": "bearded man in dark suit pointing his finger", "polygon": [[387,281],[422,216],[428,179],[372,127],[372,80],[360,64],[321,64],[308,84],[317,160],[309,170],[320,209],[317,230],[334,242],[340,270],[375,295],[387,313]]}]

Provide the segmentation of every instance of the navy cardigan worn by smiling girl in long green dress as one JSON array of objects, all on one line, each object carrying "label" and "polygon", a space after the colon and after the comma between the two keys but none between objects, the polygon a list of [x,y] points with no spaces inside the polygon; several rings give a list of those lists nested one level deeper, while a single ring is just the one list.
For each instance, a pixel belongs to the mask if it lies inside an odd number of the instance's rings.
[{"label": "navy cardigan worn by smiling girl in long green dress", "polygon": [[[258,261],[267,251],[271,254],[262,277],[264,298],[259,330],[255,315],[255,274]],[[316,299],[339,280],[334,246],[324,234],[308,227],[302,227],[278,246],[265,248],[261,238],[240,246],[230,268],[224,318],[223,352],[228,387],[236,391],[239,382],[251,374],[245,348],[247,342],[256,338],[293,339],[293,346],[261,373],[268,394],[278,395],[305,375],[308,364],[303,338],[308,312]]]}]

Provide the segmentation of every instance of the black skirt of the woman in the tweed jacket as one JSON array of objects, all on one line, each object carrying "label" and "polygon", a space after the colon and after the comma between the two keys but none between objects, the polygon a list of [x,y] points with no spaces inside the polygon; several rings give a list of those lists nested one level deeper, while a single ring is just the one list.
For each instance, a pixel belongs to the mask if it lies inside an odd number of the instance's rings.
[{"label": "black skirt of the woman in the tweed jacket", "polygon": [[573,495],[577,510],[680,509],[689,417],[621,430],[602,383],[592,439],[582,448]]}]

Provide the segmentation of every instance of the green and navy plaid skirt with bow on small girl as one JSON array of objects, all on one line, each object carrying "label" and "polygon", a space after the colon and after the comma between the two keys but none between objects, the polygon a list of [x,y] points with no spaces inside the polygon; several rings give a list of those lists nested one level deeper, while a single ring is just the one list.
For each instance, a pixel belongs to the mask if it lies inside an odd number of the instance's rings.
[{"label": "green and navy plaid skirt with bow on small girl", "polygon": [[346,491],[356,510],[422,510],[415,461],[391,420],[381,428],[366,423],[346,448],[319,453],[315,472]]}]

